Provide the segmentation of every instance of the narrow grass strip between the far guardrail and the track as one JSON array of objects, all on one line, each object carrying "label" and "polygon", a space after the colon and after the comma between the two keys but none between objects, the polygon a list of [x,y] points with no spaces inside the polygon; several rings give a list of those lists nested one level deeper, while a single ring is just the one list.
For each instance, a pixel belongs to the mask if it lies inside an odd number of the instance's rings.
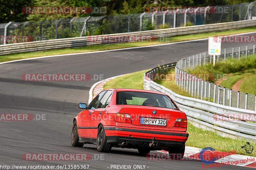
[{"label": "narrow grass strip between the far guardrail and the track", "polygon": [[102,51],[102,50],[120,49],[120,48],[128,48],[128,47],[164,44],[164,43],[179,42],[179,41],[186,41],[186,40],[193,40],[193,39],[203,39],[203,38],[208,38],[209,36],[223,36],[223,35],[252,32],[252,31],[255,31],[255,29],[256,29],[256,26],[247,27],[239,30],[223,31],[223,32],[211,32],[211,33],[204,33],[204,34],[174,36],[168,39],[168,41],[164,41],[164,42],[132,42],[132,43],[123,43],[123,44],[84,46],[79,48],[59,49],[59,50],[51,50],[51,51],[35,52],[35,53],[16,53],[16,54],[0,55],[0,62],[19,60],[19,59],[25,59],[25,58],[33,58],[33,57],[41,57],[41,56],[47,56],[47,55],[83,53],[83,52]]}]

